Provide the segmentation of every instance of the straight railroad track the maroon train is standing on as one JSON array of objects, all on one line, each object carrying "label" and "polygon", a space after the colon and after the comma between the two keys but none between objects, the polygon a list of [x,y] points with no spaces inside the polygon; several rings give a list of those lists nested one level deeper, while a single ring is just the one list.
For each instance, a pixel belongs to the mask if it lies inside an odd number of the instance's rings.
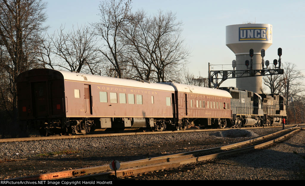
[{"label": "straight railroad track the maroon train is standing on", "polygon": [[[296,126],[293,125],[285,125]],[[166,134],[166,133],[181,133],[181,132],[202,132],[202,131],[223,131],[230,129],[254,129],[254,128],[273,128],[282,126],[268,126],[268,127],[243,127],[243,128],[224,128],[224,129],[196,129],[183,131],[154,131],[154,132],[128,132],[128,133],[111,133],[111,134],[87,134],[87,135],[72,135],[72,136],[47,136],[47,137],[30,137],[30,138],[5,138],[0,139],[0,143],[17,142],[17,141],[41,141],[41,140],[55,140],[55,139],[73,139],[73,138],[99,138],[109,136],[128,136],[128,135],[146,135],[146,134]]]}]

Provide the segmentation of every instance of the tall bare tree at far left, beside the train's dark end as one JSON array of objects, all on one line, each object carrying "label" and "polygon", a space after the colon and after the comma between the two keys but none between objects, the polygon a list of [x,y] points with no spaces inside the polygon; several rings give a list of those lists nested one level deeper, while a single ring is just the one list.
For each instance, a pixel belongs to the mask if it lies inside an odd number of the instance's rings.
[{"label": "tall bare tree at far left, beside the train's dark end", "polygon": [[[40,0],[1,0],[0,1],[0,41],[1,66],[0,83],[2,109],[12,118],[12,128],[17,127],[16,77],[38,66],[38,36],[46,27],[45,3]],[[4,90],[5,89],[5,90]],[[3,93],[4,91],[4,93]],[[13,112],[11,112],[13,111]],[[16,130],[14,130],[16,136]]]}]

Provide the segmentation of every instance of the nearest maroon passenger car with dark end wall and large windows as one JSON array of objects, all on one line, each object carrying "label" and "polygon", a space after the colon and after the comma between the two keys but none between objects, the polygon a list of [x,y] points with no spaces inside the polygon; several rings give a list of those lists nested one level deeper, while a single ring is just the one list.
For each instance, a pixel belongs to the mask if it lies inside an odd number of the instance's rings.
[{"label": "nearest maroon passenger car with dark end wall and large windows", "polygon": [[174,88],[148,81],[33,69],[17,79],[19,119],[44,134],[175,125]]}]

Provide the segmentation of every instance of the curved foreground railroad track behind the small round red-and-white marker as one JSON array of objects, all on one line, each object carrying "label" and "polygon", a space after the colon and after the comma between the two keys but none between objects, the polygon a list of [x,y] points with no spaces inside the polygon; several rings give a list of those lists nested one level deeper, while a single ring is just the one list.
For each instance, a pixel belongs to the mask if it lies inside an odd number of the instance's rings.
[{"label": "curved foreground railroad track behind the small round red-and-white marker", "polygon": [[[278,131],[272,134],[267,134],[262,137],[254,138],[247,141],[242,141],[239,143],[225,145],[217,148],[210,148],[192,152],[184,152],[178,153],[174,155],[160,156],[149,159],[141,159],[131,162],[121,163],[120,170],[117,170],[117,177],[119,178],[137,178],[142,179],[144,177],[149,177],[152,175],[166,175],[168,173],[181,172],[181,171],[189,171],[195,169],[198,164],[210,163],[217,161],[217,159],[228,156],[231,154],[246,152],[249,150],[253,150],[256,148],[261,148],[266,145],[270,145],[276,141],[282,140],[285,137],[293,134],[294,132],[302,129],[304,127],[293,127],[289,129],[285,129],[282,131]],[[291,131],[292,130],[292,131]],[[278,137],[280,133],[287,133]],[[271,138],[272,136],[277,136],[276,138]],[[266,140],[266,138],[269,138]],[[249,145],[250,143],[257,143],[256,145]],[[243,147],[242,145],[248,144],[248,147]],[[238,149],[228,149],[238,148]],[[211,153],[217,152],[217,153]],[[90,174],[90,175],[88,175]],[[45,173],[38,174],[34,176],[27,177],[19,177],[13,178],[10,180],[54,180],[54,179],[112,179],[114,176],[114,171],[109,170],[109,165],[88,167],[82,169],[75,170],[66,170],[60,171],[56,173]],[[74,178],[73,178],[74,177]]]}]

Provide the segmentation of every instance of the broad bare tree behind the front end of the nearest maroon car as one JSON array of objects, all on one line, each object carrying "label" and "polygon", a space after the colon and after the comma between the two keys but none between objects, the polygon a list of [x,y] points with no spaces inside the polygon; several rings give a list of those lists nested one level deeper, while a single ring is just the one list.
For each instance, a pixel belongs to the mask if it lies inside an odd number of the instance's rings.
[{"label": "broad bare tree behind the front end of the nearest maroon car", "polygon": [[128,45],[128,60],[135,77],[160,82],[186,63],[190,51],[181,39],[181,22],[172,12],[146,16],[144,11],[132,14],[124,27],[122,39]]}]

